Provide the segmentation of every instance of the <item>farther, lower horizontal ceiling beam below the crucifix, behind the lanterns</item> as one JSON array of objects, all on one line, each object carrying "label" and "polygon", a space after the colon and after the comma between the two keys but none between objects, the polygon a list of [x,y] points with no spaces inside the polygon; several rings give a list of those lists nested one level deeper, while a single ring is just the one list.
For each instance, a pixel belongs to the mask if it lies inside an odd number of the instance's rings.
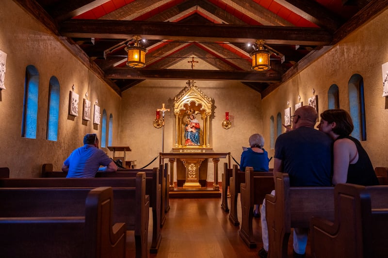
[{"label": "farther, lower horizontal ceiling beam below the crucifix, behind the lanterns", "polygon": [[246,72],[190,69],[130,69],[113,68],[105,72],[108,79],[170,79],[170,80],[215,80],[215,81],[256,81],[278,82],[281,76],[276,72]]}]

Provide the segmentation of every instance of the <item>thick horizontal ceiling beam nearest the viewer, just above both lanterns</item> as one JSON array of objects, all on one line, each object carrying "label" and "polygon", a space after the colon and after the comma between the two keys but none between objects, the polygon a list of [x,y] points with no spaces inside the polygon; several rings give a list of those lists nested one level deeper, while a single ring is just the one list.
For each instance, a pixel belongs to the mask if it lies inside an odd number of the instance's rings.
[{"label": "thick horizontal ceiling beam nearest the viewer, just above both lanterns", "polygon": [[60,32],[68,37],[122,38],[139,34],[150,40],[172,39],[199,42],[255,42],[266,44],[327,45],[332,35],[318,28],[281,26],[235,26],[226,24],[195,25],[172,22],[76,20],[61,23]]}]

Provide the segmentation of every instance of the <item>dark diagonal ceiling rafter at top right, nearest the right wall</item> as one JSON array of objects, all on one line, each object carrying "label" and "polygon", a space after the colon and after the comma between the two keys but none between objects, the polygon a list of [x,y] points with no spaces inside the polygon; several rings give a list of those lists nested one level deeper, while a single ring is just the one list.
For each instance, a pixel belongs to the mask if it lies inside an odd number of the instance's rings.
[{"label": "dark diagonal ceiling rafter at top right, nearest the right wall", "polygon": [[316,1],[276,0],[276,2],[330,32],[335,32],[344,23],[338,16],[334,15]]}]

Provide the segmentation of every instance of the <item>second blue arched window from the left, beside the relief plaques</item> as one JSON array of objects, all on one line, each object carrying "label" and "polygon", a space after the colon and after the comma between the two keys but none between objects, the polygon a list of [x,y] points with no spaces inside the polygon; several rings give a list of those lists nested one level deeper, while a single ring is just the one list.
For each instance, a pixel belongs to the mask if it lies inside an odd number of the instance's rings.
[{"label": "second blue arched window from the left, beside the relief plaques", "polygon": [[59,81],[52,76],[49,81],[49,109],[47,113],[47,140],[58,139],[58,118],[59,118]]}]

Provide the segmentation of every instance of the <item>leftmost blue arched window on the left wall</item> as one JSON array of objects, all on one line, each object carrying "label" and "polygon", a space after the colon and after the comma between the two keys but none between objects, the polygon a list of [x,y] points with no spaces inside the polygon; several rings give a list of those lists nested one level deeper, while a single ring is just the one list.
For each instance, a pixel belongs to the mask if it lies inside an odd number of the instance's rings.
[{"label": "leftmost blue arched window on the left wall", "polygon": [[26,68],[24,81],[23,117],[21,136],[36,139],[36,118],[38,114],[39,73],[33,65]]}]

